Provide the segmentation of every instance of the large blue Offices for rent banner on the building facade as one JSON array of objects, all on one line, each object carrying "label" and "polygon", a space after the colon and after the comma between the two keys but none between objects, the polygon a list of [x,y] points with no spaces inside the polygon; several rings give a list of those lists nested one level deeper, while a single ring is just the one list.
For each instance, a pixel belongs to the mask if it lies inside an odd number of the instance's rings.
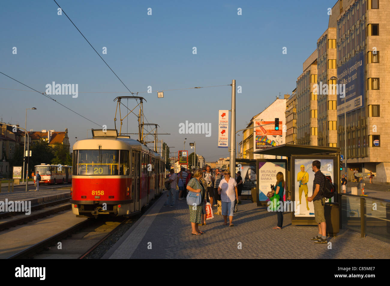
[{"label": "large blue Offices for rent banner on the building facade", "polygon": [[[338,84],[345,83],[345,97],[337,96],[337,115],[344,114],[344,99],[346,112],[364,106],[364,52],[358,53],[337,69]],[[344,78],[345,81],[340,80]]]}]

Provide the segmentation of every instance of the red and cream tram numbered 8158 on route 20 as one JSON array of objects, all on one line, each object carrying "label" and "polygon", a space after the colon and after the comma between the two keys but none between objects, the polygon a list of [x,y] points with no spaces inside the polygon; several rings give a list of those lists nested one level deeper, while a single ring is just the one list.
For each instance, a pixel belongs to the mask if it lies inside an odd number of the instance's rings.
[{"label": "red and cream tram numbered 8158 on route 20", "polygon": [[71,204],[78,217],[139,213],[163,191],[165,162],[117,130],[92,130],[73,145]]}]

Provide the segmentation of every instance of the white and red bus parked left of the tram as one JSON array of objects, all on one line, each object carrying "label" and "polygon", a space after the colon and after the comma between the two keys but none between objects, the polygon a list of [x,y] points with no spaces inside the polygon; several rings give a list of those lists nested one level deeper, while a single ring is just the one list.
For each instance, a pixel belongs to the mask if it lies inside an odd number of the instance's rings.
[{"label": "white and red bus parked left of the tram", "polygon": [[68,165],[49,165],[41,163],[41,165],[35,166],[35,176],[34,183],[37,171],[41,175],[40,184],[56,184],[56,183],[71,183],[72,182],[72,166]]}]

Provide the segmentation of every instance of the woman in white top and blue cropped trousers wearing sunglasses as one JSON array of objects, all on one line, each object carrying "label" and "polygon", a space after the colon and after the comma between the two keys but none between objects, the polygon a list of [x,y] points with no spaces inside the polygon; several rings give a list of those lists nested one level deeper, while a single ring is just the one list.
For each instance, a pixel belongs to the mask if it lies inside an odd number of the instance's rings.
[{"label": "woman in white top and blue cropped trousers wearing sunglasses", "polygon": [[[233,224],[234,201],[238,200],[237,182],[230,178],[230,172],[223,172],[224,178],[218,186],[218,195],[221,195],[222,200],[222,215],[225,220],[224,226],[227,225],[227,216],[229,215],[229,226]],[[238,202],[237,202],[238,203]]]}]

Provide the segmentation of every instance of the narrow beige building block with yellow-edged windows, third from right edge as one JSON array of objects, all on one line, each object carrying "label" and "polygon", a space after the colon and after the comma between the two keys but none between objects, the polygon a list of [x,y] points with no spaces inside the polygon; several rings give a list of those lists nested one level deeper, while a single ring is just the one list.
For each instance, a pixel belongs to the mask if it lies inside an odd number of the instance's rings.
[{"label": "narrow beige building block with yellow-edged windows, third from right edge", "polygon": [[296,81],[297,144],[317,146],[317,50],[303,63]]}]

